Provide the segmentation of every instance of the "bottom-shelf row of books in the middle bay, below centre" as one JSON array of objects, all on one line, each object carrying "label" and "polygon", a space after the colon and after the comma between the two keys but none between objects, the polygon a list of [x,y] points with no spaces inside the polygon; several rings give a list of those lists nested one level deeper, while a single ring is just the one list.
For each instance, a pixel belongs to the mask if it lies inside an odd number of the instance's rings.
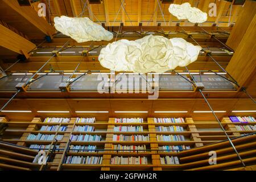
[{"label": "bottom-shelf row of books in the middle bay, below centre", "polygon": [[138,156],[138,157],[127,157],[123,156],[114,156],[110,160],[110,164],[147,164],[147,157]]}]

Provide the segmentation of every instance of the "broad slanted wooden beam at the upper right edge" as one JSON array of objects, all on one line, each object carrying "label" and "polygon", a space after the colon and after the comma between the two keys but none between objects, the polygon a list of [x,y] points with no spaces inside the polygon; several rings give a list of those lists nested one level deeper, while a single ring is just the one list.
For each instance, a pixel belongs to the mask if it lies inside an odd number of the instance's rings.
[{"label": "broad slanted wooden beam at the upper right edge", "polygon": [[[246,29],[246,31],[242,36],[240,44],[238,44],[232,59],[226,67],[226,71],[229,72],[238,84],[245,87],[254,79],[256,71],[256,2],[246,1],[246,4],[247,2],[250,2],[250,5],[245,5],[245,7],[243,7],[244,12],[246,13],[242,14],[242,20],[236,23],[237,30],[234,28],[234,35],[230,35],[231,38],[229,38],[228,45],[230,46],[232,44],[231,42],[239,42],[239,38],[237,37],[240,37],[240,34],[242,34],[244,29]],[[254,7],[254,10],[251,10],[252,7]],[[254,12],[254,15],[251,14],[251,11]]]}]

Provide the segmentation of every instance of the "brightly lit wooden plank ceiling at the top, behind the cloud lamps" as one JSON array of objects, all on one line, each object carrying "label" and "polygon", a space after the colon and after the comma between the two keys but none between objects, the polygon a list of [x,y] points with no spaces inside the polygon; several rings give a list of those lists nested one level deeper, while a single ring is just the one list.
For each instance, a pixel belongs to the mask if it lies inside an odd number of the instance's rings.
[{"label": "brightly lit wooden plank ceiling at the top, behind the cloud lamps", "polygon": [[[123,6],[121,1],[123,1]],[[120,23],[125,26],[138,26],[140,22],[143,26],[156,26],[158,23],[161,23],[162,26],[176,26],[177,23],[180,23],[180,26],[194,25],[187,20],[178,20],[171,15],[168,11],[170,4],[162,4],[161,0],[103,0],[101,4],[89,4],[88,0],[51,0],[49,1],[50,5],[47,0],[42,2],[50,7],[48,9],[50,12],[47,14],[50,14],[50,22],[53,26],[53,18],[60,15],[87,16],[94,22],[105,23],[106,26],[118,26]],[[217,16],[208,16],[207,22],[200,23],[199,26],[216,24],[219,27],[228,27],[236,22],[242,9],[241,5],[232,5],[231,2],[224,0],[174,1],[175,4],[184,2],[189,2],[193,7],[206,13],[210,10],[209,3],[216,3]]]}]

